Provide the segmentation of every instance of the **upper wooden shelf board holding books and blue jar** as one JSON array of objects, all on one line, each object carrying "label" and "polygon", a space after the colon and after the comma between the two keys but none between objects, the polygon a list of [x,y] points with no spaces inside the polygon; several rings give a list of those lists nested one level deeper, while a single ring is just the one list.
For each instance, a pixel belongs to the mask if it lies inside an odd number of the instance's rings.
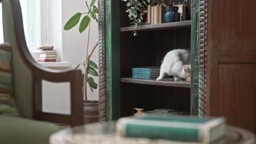
[{"label": "upper wooden shelf board holding books and blue jar", "polygon": [[152,30],[166,30],[166,29],[177,29],[187,28],[191,26],[191,20],[161,23],[156,25],[142,25],[137,27],[121,27],[120,31],[152,31]]}]

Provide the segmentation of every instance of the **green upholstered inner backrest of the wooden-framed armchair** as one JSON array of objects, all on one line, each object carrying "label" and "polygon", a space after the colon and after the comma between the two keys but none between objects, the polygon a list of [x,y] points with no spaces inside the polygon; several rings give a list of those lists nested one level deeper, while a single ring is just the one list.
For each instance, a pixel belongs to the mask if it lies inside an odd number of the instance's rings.
[{"label": "green upholstered inner backrest of the wooden-framed armchair", "polygon": [[[32,78],[31,73],[17,50],[17,44],[14,32],[14,23],[12,19],[12,7],[9,0],[2,1],[3,7],[3,30],[4,42],[12,46],[12,69],[14,81],[14,100],[19,110],[19,114],[25,118],[32,117]],[[22,23],[19,23],[21,25]]]}]

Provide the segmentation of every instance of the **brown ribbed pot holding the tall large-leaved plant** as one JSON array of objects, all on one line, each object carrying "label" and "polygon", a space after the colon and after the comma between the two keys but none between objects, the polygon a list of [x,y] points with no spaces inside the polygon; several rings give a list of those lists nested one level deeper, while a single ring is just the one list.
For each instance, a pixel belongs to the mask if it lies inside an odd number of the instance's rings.
[{"label": "brown ribbed pot holding the tall large-leaved plant", "polygon": [[99,101],[84,103],[84,123],[99,122]]}]

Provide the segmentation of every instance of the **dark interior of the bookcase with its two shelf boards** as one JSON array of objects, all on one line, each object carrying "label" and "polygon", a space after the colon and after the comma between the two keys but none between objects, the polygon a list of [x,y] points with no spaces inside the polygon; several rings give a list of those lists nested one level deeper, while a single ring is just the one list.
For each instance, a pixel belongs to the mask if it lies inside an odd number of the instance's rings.
[{"label": "dark interior of the bookcase with its two shelf boards", "polygon": [[[190,50],[191,20],[130,27],[124,3],[119,7],[120,116],[131,116],[133,108],[146,111],[167,108],[190,113],[190,82],[131,77],[134,67],[161,66],[165,54],[171,50]],[[137,36],[133,36],[134,30]]]}]

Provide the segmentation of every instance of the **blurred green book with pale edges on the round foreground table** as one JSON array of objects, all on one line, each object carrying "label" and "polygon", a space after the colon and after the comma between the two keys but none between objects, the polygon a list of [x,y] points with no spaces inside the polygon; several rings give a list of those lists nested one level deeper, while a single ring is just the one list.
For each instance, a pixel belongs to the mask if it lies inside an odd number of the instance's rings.
[{"label": "blurred green book with pale edges on the round foreground table", "polygon": [[117,135],[124,137],[213,142],[225,135],[225,118],[142,115],[120,118]]}]

